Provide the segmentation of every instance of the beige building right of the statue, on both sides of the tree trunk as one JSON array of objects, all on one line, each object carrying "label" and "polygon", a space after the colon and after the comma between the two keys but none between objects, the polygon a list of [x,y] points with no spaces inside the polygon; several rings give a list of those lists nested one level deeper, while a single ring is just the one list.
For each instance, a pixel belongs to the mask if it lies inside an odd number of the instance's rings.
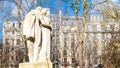
[{"label": "beige building right of the statue, on both sides of the tree trunk", "polygon": [[[61,13],[61,12],[60,12]],[[74,16],[62,16],[62,14],[54,15],[51,17],[52,24],[52,46],[55,55],[59,54],[59,63],[61,67],[72,67],[72,61],[75,57],[75,53],[72,53],[72,49],[77,44],[76,32],[72,31],[75,27]],[[79,31],[81,31],[82,19],[79,17]],[[105,22],[105,24],[103,23]],[[116,22],[113,19],[107,19],[105,16],[100,14],[91,14],[87,17],[85,25],[85,44],[84,44],[84,56],[85,64],[94,68],[96,65],[101,63],[101,55],[104,50],[104,46],[108,39],[111,38],[113,33],[112,28]],[[73,45],[73,47],[71,46]],[[55,47],[55,48],[54,48]],[[56,56],[54,56],[56,57]],[[57,56],[58,57],[58,56]],[[56,57],[56,58],[57,58]],[[78,59],[77,59],[78,60]],[[77,63],[74,59],[74,63]]]}]

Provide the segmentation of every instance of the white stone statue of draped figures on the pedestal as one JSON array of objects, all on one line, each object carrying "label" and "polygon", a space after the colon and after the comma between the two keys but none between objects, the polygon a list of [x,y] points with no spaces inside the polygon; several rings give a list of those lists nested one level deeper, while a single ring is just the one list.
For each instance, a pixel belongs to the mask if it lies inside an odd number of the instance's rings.
[{"label": "white stone statue of draped figures on the pedestal", "polygon": [[29,62],[50,61],[50,12],[47,8],[37,7],[30,11],[23,23]]}]

